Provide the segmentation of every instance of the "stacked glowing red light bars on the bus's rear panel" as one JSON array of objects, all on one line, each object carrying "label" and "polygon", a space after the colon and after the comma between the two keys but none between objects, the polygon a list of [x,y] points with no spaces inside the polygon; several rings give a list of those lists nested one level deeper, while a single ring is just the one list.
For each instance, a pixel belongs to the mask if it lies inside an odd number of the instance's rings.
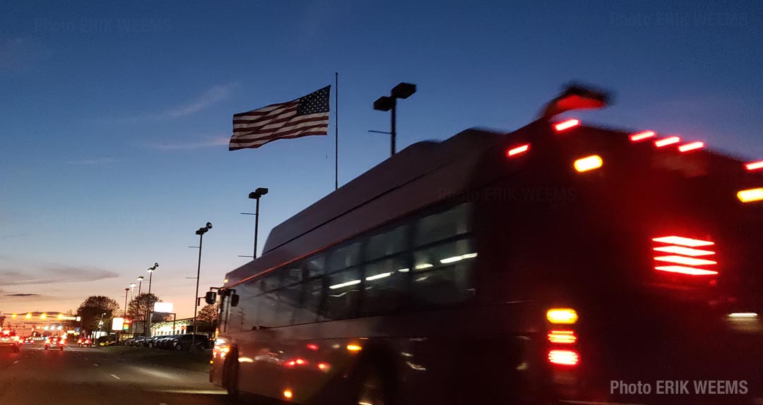
[{"label": "stacked glowing red light bars on the bus's rear panel", "polygon": [[[715,251],[707,246],[714,242],[686,236],[659,236],[652,238],[655,252],[655,270],[682,275],[717,275]],[[701,247],[703,249],[696,249]]]}]

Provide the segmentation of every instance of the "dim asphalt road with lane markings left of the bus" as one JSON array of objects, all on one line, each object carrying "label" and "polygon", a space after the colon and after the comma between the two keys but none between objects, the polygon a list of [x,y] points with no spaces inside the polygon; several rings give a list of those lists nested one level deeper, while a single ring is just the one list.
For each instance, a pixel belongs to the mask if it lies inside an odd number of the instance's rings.
[{"label": "dim asphalt road with lane markings left of the bus", "polygon": [[50,405],[195,405],[228,403],[208,374],[140,364],[98,348],[19,353],[0,349],[0,403]]}]

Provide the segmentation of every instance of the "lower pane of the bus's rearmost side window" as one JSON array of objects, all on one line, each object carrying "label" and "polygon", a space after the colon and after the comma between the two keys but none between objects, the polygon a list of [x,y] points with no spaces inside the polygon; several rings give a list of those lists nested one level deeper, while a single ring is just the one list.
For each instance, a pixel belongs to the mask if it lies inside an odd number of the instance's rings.
[{"label": "lower pane of the bus's rearmost side window", "polygon": [[414,252],[413,294],[420,306],[456,304],[475,296],[472,239],[443,243]]}]

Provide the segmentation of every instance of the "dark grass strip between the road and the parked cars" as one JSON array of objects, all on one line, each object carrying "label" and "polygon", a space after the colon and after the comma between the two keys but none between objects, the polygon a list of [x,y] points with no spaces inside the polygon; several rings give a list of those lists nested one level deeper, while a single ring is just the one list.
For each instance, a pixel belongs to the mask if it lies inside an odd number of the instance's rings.
[{"label": "dark grass strip between the road and the parked cars", "polygon": [[182,368],[190,371],[209,371],[211,350],[201,352],[185,352],[177,350],[162,350],[156,348],[106,346],[98,348],[102,352],[118,355],[130,362],[143,362],[152,365]]}]

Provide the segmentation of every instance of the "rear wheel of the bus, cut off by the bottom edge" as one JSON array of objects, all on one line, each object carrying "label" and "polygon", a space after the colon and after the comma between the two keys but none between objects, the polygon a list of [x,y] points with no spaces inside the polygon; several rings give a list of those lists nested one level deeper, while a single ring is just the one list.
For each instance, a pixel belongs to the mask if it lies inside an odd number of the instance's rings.
[{"label": "rear wheel of the bus, cut off by the bottom edge", "polygon": [[396,405],[394,377],[391,367],[384,362],[367,359],[356,370],[353,404]]}]

